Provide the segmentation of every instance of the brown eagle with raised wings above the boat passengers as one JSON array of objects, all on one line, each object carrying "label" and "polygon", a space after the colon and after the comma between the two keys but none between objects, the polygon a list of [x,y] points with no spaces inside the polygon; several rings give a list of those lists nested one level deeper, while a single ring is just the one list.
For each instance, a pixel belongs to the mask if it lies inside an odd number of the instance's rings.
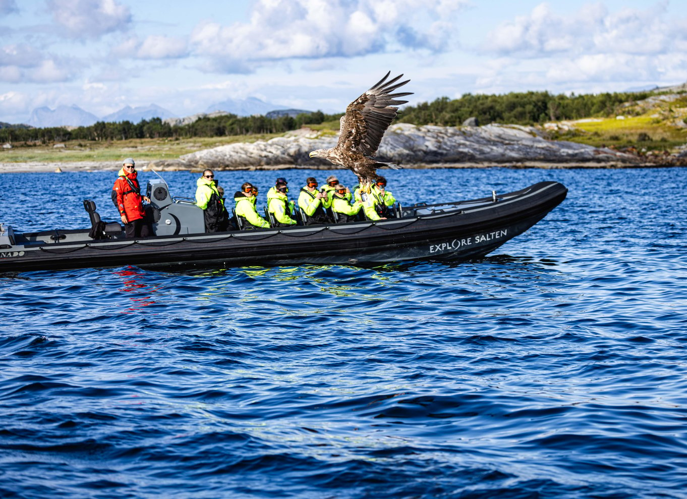
[{"label": "brown eagle with raised wings above the boat passengers", "polygon": [[398,97],[411,95],[412,92],[392,93],[410,80],[396,83],[403,76],[387,81],[391,71],[374,84],[368,91],[348,104],[346,114],[341,117],[341,131],[337,145],[330,149],[317,149],[310,153],[311,158],[324,158],[335,165],[352,170],[358,176],[361,189],[370,192],[377,168],[398,168],[394,163],[381,163],[374,160],[379,143],[389,125],[398,114],[398,106],[407,100]]}]

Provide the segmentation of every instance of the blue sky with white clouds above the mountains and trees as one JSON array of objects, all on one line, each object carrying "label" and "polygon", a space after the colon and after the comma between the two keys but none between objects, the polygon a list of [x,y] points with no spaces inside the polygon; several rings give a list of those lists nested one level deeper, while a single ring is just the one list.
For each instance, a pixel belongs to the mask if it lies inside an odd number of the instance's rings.
[{"label": "blue sky with white clouds above the mountains and trees", "polygon": [[687,2],[0,0],[0,121],[227,98],[343,111],[386,71],[411,104],[687,81]]}]

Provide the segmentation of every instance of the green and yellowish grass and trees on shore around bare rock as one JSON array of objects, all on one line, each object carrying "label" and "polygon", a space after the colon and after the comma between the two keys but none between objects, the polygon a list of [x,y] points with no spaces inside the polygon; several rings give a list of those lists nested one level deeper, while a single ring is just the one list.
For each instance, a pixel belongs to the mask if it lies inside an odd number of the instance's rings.
[{"label": "green and yellowish grass and trees on shore around bare rock", "polygon": [[[159,118],[142,120],[139,124],[98,122],[93,126],[76,128],[26,128],[0,124],[0,172],[118,170],[122,159],[128,156],[133,156],[141,167],[152,163],[153,168],[159,171],[199,171],[205,165],[189,164],[188,157],[201,157],[204,152],[216,148],[226,150],[228,147],[245,152],[250,148],[259,149],[272,139],[282,140],[297,135],[306,138],[308,133],[307,138],[331,141],[338,133],[339,116],[324,115],[319,111],[278,119],[227,114],[201,117],[183,126],[170,126]],[[446,154],[445,150],[440,151],[442,146],[444,149],[448,147],[442,144],[445,134],[438,132],[439,139],[429,137],[425,143],[413,144],[414,148],[427,151],[426,161],[418,154],[407,155],[407,159],[398,161],[404,168],[687,165],[687,84],[641,93],[570,96],[548,92],[466,94],[456,100],[441,97],[431,103],[405,106],[397,124],[423,127],[423,130],[460,130],[465,137],[462,143],[467,143],[462,155]],[[534,150],[514,157],[510,154],[510,143],[498,140],[490,143],[491,151],[485,156],[484,150],[469,141],[471,136],[480,133],[482,142],[485,135],[486,141],[491,141],[493,137],[489,134],[493,130],[485,132],[490,126],[501,127],[502,130],[519,127],[545,141],[544,144],[550,144],[551,148],[562,149],[570,143],[583,148],[597,148],[598,161],[587,161],[562,152],[558,156],[556,153],[537,156]],[[508,137],[508,140],[512,139]],[[515,137],[515,140],[515,147],[518,147],[527,141],[527,137]],[[537,147],[543,149],[541,144]],[[570,151],[569,146],[565,147]],[[499,148],[502,154],[499,154]],[[436,150],[443,156],[432,154]],[[261,152],[269,154],[269,147]],[[612,157],[614,154],[617,157]],[[269,161],[251,159],[255,158],[247,158],[243,164],[228,161],[208,166],[216,170],[337,169],[334,165],[311,163],[307,157],[302,160],[301,156],[271,158]]]}]

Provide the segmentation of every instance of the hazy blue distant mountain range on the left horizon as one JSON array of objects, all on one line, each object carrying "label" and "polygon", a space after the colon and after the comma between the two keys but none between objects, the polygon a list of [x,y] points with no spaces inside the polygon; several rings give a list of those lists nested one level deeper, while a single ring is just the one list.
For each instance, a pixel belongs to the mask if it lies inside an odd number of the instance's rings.
[{"label": "hazy blue distant mountain range on the left horizon", "polygon": [[57,106],[55,109],[44,106],[34,109],[31,113],[31,117],[26,123],[36,128],[47,128],[52,126],[91,126],[96,121],[131,121],[132,123],[138,123],[142,119],[159,117],[170,124],[187,124],[206,115],[213,116],[226,113],[232,113],[237,116],[277,113],[274,116],[278,117],[283,115],[295,116],[299,113],[309,112],[310,111],[302,111],[300,109],[288,109],[278,104],[264,102],[257,97],[248,97],[247,99],[227,99],[222,102],[216,102],[211,106],[207,106],[205,113],[197,113],[196,115],[184,118],[178,118],[174,113],[157,104],[137,107],[126,106],[115,113],[102,117],[84,111],[79,106],[76,106],[76,104],[71,106]]}]

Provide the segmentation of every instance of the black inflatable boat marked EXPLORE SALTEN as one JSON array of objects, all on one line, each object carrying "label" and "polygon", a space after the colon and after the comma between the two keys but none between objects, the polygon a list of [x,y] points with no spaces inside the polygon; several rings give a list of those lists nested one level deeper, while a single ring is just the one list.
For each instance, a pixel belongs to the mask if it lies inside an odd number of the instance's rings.
[{"label": "black inflatable boat marked EXPLORE SALTEN", "polygon": [[[152,237],[125,239],[122,226],[19,233],[0,224],[0,272],[87,267],[198,265],[385,264],[404,260],[475,259],[532,227],[567,194],[558,182],[475,200],[403,207],[398,218],[287,228],[203,233],[203,211],[148,183]],[[95,204],[84,202],[91,225]],[[102,224],[101,226],[102,227]]]}]

